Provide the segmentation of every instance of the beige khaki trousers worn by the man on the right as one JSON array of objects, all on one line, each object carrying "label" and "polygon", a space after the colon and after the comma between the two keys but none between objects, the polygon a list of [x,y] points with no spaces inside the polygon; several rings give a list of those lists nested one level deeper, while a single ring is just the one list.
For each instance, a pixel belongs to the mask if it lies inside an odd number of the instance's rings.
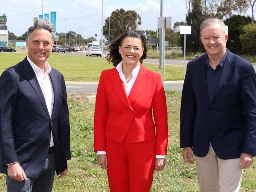
[{"label": "beige khaki trousers worn by the man on the right", "polygon": [[223,160],[217,157],[210,144],[205,157],[196,157],[200,192],[238,192],[243,171],[240,158]]}]

